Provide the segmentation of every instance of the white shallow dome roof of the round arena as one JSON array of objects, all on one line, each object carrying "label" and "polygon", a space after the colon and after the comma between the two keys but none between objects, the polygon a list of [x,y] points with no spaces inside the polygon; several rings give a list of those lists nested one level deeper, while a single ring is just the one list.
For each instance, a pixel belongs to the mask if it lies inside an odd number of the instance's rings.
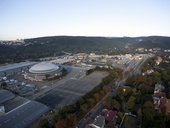
[{"label": "white shallow dome roof of the round arena", "polygon": [[31,73],[49,73],[58,70],[59,67],[55,64],[52,64],[50,62],[41,62],[34,66],[32,66],[29,69],[29,72]]}]

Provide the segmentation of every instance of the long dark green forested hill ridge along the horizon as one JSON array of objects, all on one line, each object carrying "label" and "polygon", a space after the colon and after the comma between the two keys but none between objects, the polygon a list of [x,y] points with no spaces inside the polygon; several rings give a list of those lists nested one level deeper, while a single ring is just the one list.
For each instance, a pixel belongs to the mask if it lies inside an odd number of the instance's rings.
[{"label": "long dark green forested hill ridge along the horizon", "polygon": [[125,49],[127,45],[129,48],[160,47],[170,49],[170,37],[52,36],[25,39],[24,43],[18,46],[0,45],[0,63],[56,56],[61,55],[61,51],[71,53],[112,51],[119,54],[122,50],[128,50]]}]

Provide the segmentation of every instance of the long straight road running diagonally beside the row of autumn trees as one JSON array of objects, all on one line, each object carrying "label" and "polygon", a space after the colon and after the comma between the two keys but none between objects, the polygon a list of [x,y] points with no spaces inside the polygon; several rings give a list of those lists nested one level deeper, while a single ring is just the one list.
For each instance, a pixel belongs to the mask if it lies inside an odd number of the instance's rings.
[{"label": "long straight road running diagonally beside the row of autumn trees", "polygon": [[[140,62],[138,65],[136,65],[136,68],[134,68],[133,74],[136,75],[136,74],[138,74],[138,73],[141,72],[141,66],[144,64],[144,62],[145,62],[148,58],[149,58],[149,56],[145,56],[144,59],[141,60],[141,62]],[[130,74],[130,75],[132,75],[132,74]],[[130,76],[130,75],[129,75],[129,76]],[[108,96],[108,95],[109,95],[109,96],[115,96],[115,95],[116,95],[117,88],[118,88],[119,86],[124,86],[125,81],[126,81],[126,79],[127,79],[129,76],[126,76],[125,78],[123,78],[123,79],[122,79],[121,81],[119,81],[119,82],[115,82],[115,87],[114,87],[114,89],[113,89],[111,92],[109,92],[109,93],[107,94],[107,96]],[[105,97],[104,97],[104,98],[105,98]],[[104,98],[103,98],[103,99],[104,99]],[[79,128],[85,127],[86,124],[89,124],[90,121],[91,121],[93,118],[95,118],[97,115],[100,114],[101,110],[104,108],[103,99],[89,112],[89,113],[91,113],[91,116],[87,116],[86,118],[82,119],[82,120],[77,124],[77,127],[79,127]]]}]

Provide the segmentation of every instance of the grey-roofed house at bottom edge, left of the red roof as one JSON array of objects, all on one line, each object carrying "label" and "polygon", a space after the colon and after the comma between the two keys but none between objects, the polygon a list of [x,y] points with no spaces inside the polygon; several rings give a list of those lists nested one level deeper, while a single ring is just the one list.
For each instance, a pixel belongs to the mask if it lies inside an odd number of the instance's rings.
[{"label": "grey-roofed house at bottom edge, left of the red roof", "polygon": [[88,124],[85,128],[104,128],[105,118],[104,116],[97,116],[92,124]]}]

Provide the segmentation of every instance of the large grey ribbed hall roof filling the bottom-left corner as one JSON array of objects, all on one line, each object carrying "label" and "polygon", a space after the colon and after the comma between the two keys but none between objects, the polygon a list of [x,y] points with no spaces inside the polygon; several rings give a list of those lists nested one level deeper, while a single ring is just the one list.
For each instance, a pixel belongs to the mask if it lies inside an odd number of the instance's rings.
[{"label": "large grey ribbed hall roof filling the bottom-left corner", "polygon": [[49,108],[36,101],[28,101],[22,106],[0,117],[0,128],[27,128]]}]

